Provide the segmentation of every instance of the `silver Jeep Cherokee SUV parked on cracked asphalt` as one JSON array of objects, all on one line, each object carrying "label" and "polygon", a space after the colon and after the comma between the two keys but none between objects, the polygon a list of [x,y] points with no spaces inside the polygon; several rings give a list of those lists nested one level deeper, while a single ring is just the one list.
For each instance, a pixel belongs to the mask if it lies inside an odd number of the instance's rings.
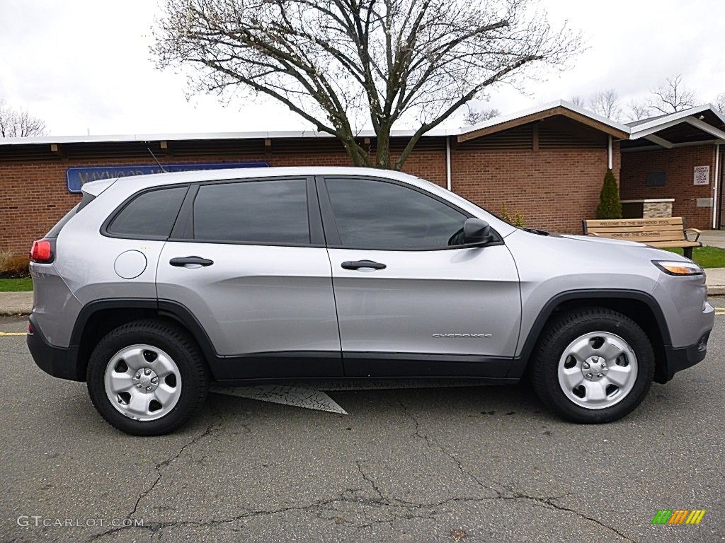
[{"label": "silver Jeep Cherokee SUV parked on cracked asphalt", "polygon": [[417,177],[233,169],[83,186],[31,251],[28,347],[130,434],[211,382],[526,376],[579,423],[705,358],[705,274],[639,243],[518,229]]}]

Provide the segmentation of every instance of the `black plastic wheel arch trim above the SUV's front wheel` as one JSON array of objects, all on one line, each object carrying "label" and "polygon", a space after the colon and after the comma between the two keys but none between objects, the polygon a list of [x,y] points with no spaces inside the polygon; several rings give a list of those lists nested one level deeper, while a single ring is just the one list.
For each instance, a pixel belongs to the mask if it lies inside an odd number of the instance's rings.
[{"label": "black plastic wheel arch trim above the SUV's front wheel", "polygon": [[[566,302],[571,302],[575,300],[591,300],[597,298],[602,298],[606,300],[634,300],[645,303],[655,316],[655,321],[657,321],[660,334],[662,334],[662,339],[666,351],[671,348],[672,341],[670,331],[667,326],[667,321],[665,319],[664,313],[662,312],[662,308],[660,308],[660,304],[657,302],[653,295],[642,290],[630,289],[566,290],[564,292],[559,292],[557,295],[550,298],[550,300],[544,304],[542,310],[539,311],[537,319],[534,321],[531,329],[529,329],[529,333],[526,335],[526,340],[524,340],[523,342],[521,353],[514,359],[514,363],[511,366],[508,377],[521,377],[523,375],[523,371],[526,369],[526,364],[529,362],[529,358],[531,357],[531,353],[534,351],[534,347],[539,340],[539,336],[541,335],[544,327],[546,326],[547,321],[549,321],[550,317],[554,313],[555,308]],[[668,361],[663,362],[668,363]]]}]

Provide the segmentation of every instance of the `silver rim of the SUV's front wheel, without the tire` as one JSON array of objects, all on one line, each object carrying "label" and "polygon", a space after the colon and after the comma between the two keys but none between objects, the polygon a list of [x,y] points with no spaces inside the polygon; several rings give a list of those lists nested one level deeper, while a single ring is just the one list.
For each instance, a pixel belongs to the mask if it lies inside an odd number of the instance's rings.
[{"label": "silver rim of the SUV's front wheel, without the tire", "polygon": [[637,356],[610,332],[588,332],[564,349],[558,366],[566,397],[587,409],[604,409],[624,400],[637,381]]}]

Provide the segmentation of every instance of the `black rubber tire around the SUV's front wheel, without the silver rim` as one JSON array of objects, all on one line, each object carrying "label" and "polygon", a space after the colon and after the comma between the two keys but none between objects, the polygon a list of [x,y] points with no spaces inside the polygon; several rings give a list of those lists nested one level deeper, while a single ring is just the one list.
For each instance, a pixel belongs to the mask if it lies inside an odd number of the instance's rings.
[{"label": "black rubber tire around the SUV's front wheel, without the silver rim", "polygon": [[[629,343],[637,357],[637,378],[628,394],[604,408],[585,408],[567,397],[559,384],[558,368],[564,350],[590,332],[609,332]],[[602,370],[603,371],[603,370]],[[629,317],[607,308],[567,311],[547,325],[531,359],[531,384],[537,396],[567,421],[597,424],[616,421],[637,408],[650,389],[655,374],[655,355],[649,337]]]}]

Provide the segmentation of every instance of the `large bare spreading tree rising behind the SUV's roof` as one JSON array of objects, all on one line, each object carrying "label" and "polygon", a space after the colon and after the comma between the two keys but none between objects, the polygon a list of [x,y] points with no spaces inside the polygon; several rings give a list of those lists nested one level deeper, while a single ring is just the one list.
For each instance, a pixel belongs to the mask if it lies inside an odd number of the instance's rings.
[{"label": "large bare spreading tree rising behind the SUV's roof", "polygon": [[[581,38],[530,0],[165,0],[152,54],[191,90],[245,90],[339,138],[354,164],[400,169],[415,143],[529,67],[563,68]],[[390,132],[413,136],[394,161]],[[376,132],[368,151],[356,139]],[[374,158],[373,156],[374,155]]]}]

